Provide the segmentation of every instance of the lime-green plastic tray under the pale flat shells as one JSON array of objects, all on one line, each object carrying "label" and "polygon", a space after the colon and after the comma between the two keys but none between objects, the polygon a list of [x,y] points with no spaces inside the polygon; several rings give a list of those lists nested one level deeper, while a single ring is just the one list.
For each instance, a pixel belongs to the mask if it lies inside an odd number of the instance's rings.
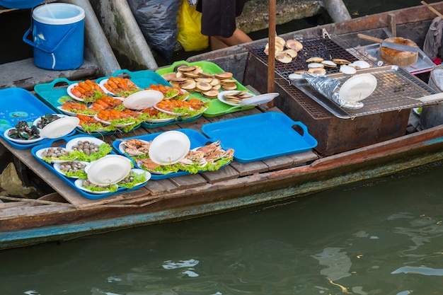
[{"label": "lime-green plastic tray under the pale flat shells", "polygon": [[[186,61],[178,61],[171,64],[171,66],[163,67],[160,69],[157,69],[156,72],[160,75],[171,73],[176,70],[178,66],[181,65],[187,65],[187,66],[200,66],[203,71],[209,74],[217,74],[221,73],[224,70],[220,68],[217,64],[214,64],[213,62],[186,62]],[[235,80],[235,79],[234,79]],[[238,90],[248,90],[245,86],[243,86],[241,83],[237,81],[237,89]],[[248,105],[248,106],[232,106],[232,105],[226,105],[226,103],[222,103],[217,98],[205,98],[205,96],[202,95],[202,93],[193,91],[190,93],[190,97],[192,98],[198,98],[200,100],[210,102],[209,108],[203,112],[204,117],[217,117],[220,115],[227,114],[229,112],[238,112],[240,110],[249,110],[251,108],[255,108],[254,105]]]}]

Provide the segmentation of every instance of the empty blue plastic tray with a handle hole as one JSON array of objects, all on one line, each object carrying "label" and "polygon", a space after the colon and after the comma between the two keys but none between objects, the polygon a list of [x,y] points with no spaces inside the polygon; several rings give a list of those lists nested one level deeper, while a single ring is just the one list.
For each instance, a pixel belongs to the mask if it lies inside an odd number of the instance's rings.
[{"label": "empty blue plastic tray with a handle hole", "polygon": [[[303,134],[294,125],[301,127]],[[202,132],[221,140],[224,149],[234,149],[234,160],[240,163],[296,154],[317,146],[306,125],[280,112],[209,123],[202,126]]]}]

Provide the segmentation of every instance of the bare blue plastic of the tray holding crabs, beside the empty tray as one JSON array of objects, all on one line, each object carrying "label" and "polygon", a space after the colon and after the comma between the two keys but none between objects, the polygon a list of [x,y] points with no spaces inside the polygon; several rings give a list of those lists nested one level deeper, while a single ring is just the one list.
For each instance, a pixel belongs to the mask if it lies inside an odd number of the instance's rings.
[{"label": "bare blue plastic of the tray holding crabs, beside the empty tray", "polygon": [[[191,143],[190,149],[195,149],[196,147],[204,146],[208,142],[212,142],[212,140],[210,140],[207,137],[205,137],[205,135],[203,135],[200,132],[195,131],[193,129],[185,129],[184,128],[184,129],[177,129],[177,131],[183,132],[184,134],[186,134],[189,137],[190,143]],[[125,137],[123,139],[135,138],[135,139],[142,139],[142,140],[145,140],[145,141],[151,141],[151,140],[156,138],[161,133],[163,133],[163,132],[157,132],[157,133],[152,133],[152,134],[140,135],[140,136],[137,136],[137,137]],[[120,153],[120,150],[118,149],[118,146],[120,145],[121,142],[122,142],[122,140],[119,140],[119,139],[113,141],[113,148],[119,154],[121,154],[121,153]],[[127,156],[128,158],[130,158],[130,156],[128,156],[127,154],[122,154],[122,155]],[[132,161],[132,163],[134,163],[132,158],[131,158],[131,161]],[[139,167],[137,165],[137,163],[134,163],[134,166],[137,167],[137,168],[141,168],[141,167]],[[187,172],[187,171],[179,171],[179,172],[176,172],[176,173],[169,173],[169,174],[152,174],[151,173],[151,179],[152,180],[160,180],[160,179],[172,178],[172,177],[188,175],[188,174],[190,174],[190,173]]]}]

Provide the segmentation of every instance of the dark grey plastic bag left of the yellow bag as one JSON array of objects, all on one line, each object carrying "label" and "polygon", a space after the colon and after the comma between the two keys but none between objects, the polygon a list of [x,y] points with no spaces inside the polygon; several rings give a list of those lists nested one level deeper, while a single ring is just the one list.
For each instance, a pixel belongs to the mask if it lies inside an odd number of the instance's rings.
[{"label": "dark grey plastic bag left of the yellow bag", "polygon": [[149,47],[171,62],[177,44],[181,0],[127,0]]}]

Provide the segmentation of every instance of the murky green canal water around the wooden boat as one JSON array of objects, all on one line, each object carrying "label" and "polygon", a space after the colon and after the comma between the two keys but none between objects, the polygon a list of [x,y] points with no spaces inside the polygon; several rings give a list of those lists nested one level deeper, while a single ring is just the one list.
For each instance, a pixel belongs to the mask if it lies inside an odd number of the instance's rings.
[{"label": "murky green canal water around the wooden boat", "polygon": [[[345,4],[364,15],[418,1]],[[442,175],[437,163],[282,204],[1,250],[0,294],[443,294]]]}]

